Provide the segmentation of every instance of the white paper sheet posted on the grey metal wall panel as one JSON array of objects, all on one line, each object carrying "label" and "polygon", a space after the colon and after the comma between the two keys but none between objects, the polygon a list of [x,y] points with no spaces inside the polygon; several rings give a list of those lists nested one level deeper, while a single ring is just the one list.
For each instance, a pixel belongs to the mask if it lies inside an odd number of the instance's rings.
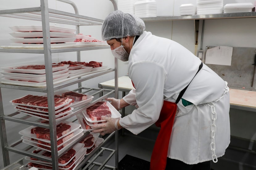
[{"label": "white paper sheet posted on the grey metal wall panel", "polygon": [[205,64],[231,65],[233,47],[217,46],[206,51]]}]

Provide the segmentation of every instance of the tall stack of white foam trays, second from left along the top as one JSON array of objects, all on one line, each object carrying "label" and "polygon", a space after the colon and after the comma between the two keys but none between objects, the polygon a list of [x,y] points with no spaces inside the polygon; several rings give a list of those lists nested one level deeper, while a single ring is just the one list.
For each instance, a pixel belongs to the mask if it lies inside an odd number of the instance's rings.
[{"label": "tall stack of white foam trays, second from left along the top", "polygon": [[137,17],[156,17],[157,3],[155,0],[140,0],[134,3],[134,13]]}]

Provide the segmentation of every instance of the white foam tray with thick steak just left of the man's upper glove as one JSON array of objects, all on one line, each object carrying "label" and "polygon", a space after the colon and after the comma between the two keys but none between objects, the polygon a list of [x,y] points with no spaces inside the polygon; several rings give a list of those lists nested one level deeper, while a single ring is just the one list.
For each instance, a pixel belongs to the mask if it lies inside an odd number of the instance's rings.
[{"label": "white foam tray with thick steak just left of the man's upper glove", "polygon": [[80,105],[85,105],[93,100],[93,96],[84,93],[78,93],[71,90],[61,90],[54,93],[54,97],[68,97],[72,99],[72,107],[76,108]]}]

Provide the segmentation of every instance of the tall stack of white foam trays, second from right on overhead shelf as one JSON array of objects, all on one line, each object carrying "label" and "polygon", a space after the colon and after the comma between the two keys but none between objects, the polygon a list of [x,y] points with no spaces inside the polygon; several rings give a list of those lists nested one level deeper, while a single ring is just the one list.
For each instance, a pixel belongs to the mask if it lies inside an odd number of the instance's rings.
[{"label": "tall stack of white foam trays, second from right on overhead shelf", "polygon": [[197,0],[197,15],[222,13],[223,0]]}]

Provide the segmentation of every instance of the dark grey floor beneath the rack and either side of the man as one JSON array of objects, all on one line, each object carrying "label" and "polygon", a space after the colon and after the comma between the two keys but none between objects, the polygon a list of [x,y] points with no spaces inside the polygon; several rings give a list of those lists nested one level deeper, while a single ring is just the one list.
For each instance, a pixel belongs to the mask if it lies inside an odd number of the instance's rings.
[{"label": "dark grey floor beneath the rack and either side of the man", "polygon": [[[128,154],[150,161],[151,152],[154,147],[158,130],[149,128],[139,135],[133,135],[128,131],[124,131],[124,135],[119,132],[118,141],[118,160]],[[107,148],[115,149],[114,139],[106,144]],[[248,150],[250,146],[250,150]],[[247,148],[247,149],[246,149]],[[105,160],[104,153],[97,158],[97,162]],[[115,166],[115,157],[113,156],[108,165]],[[97,168],[95,168],[97,169]],[[256,170],[256,143],[255,141],[246,141],[236,137],[231,137],[231,143],[227,148],[225,155],[218,158],[217,163],[212,163],[213,170]],[[92,169],[94,170],[94,169]]]}]

